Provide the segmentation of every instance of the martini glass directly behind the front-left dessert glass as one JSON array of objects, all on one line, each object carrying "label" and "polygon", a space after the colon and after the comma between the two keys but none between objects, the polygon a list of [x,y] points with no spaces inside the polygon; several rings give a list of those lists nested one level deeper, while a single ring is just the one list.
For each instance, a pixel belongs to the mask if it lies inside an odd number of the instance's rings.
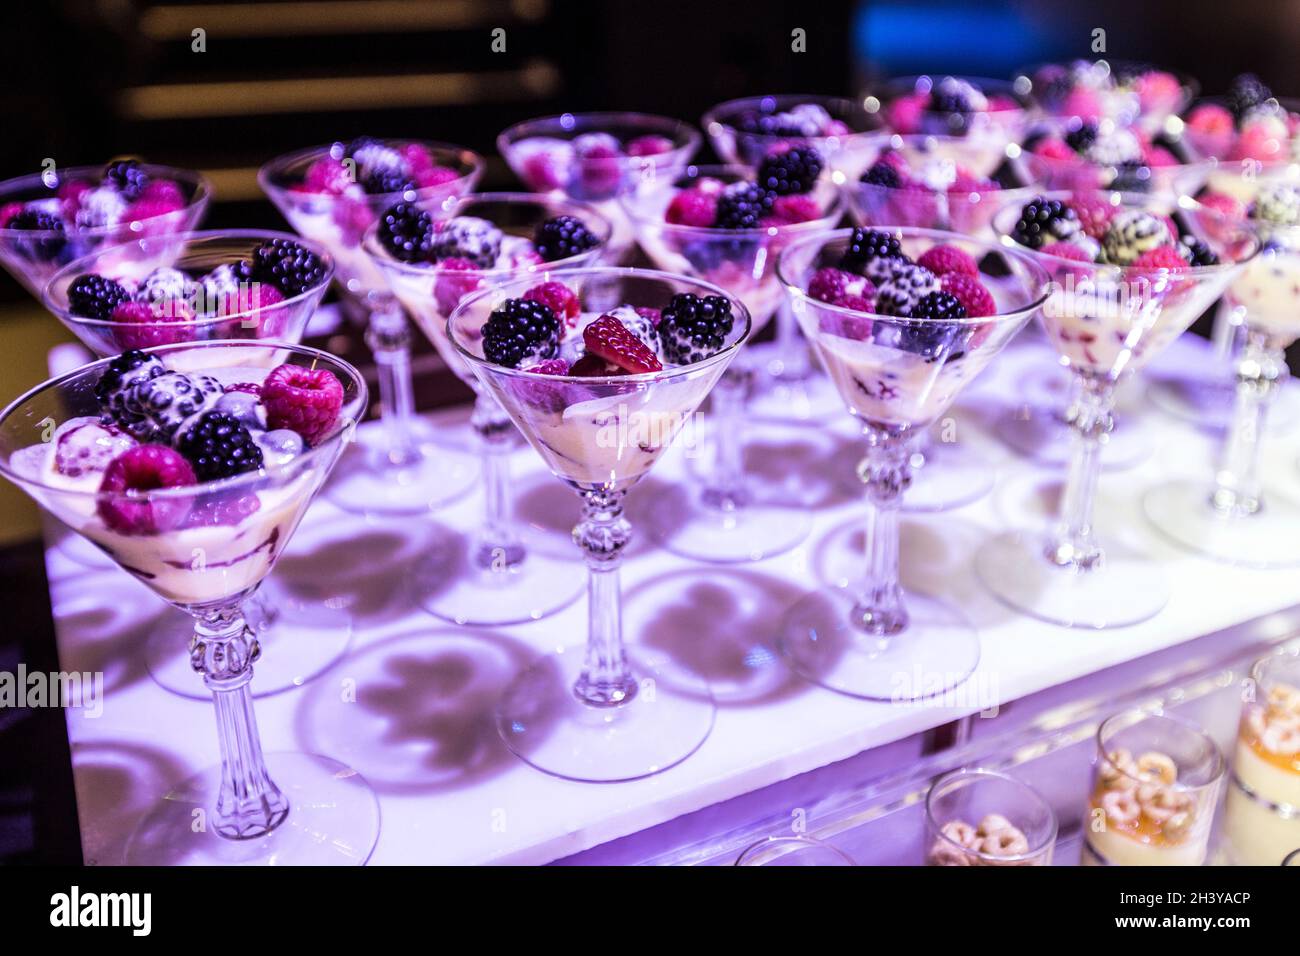
[{"label": "martini glass directly behind the front-left dessert glass", "polygon": [[[237,265],[252,258],[254,250],[273,239],[299,242],[324,263],[318,282],[291,298],[268,306],[248,307],[257,294],[257,282],[244,284],[239,293],[221,304],[209,317],[191,317],[194,306],[203,303],[203,285],[198,281],[221,265]],[[74,315],[68,306],[68,287],[84,274],[99,274],[134,286],[155,269],[177,269],[186,274],[181,313],[176,303],[150,300],[160,320],[148,324],[87,319]],[[78,259],[60,269],[46,286],[46,308],[95,355],[110,358],[127,349],[157,345],[200,342],[208,339],[276,341],[298,345],[329,287],[334,260],[322,247],[287,233],[256,229],[209,230],[153,235]],[[242,304],[240,304],[242,303]],[[172,311],[169,311],[169,307]],[[268,352],[273,351],[268,349]],[[243,355],[240,355],[243,358]],[[211,360],[204,355],[204,360]],[[244,602],[244,619],[257,635],[257,643],[277,650],[257,669],[254,696],[266,696],[300,687],[333,665],[352,640],[352,615],[335,600],[308,598],[294,593],[276,576],[263,583]],[[172,693],[203,698],[188,662],[179,648],[194,632],[187,622],[179,631],[160,628],[150,635],[144,646],[146,662],[153,679]]]}]

